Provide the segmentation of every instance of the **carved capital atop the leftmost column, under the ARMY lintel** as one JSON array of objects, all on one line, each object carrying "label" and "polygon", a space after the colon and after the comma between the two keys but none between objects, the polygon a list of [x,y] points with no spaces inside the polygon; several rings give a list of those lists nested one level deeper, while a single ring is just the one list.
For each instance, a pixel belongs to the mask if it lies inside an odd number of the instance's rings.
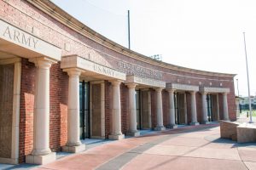
[{"label": "carved capital atop the leftmost column, under the ARMY lintel", "polygon": [[56,60],[54,59],[49,59],[47,57],[36,57],[29,59],[30,62],[34,63],[36,67],[41,68],[41,69],[49,69],[49,67],[52,64],[57,63]]}]

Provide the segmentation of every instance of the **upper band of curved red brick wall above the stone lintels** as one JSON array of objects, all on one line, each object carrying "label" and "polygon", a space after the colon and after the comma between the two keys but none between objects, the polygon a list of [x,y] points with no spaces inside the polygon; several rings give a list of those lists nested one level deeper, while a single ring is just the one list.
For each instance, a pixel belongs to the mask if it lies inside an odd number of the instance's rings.
[{"label": "upper band of curved red brick wall above the stone lintels", "polygon": [[10,24],[28,32],[32,32],[32,27],[35,26],[40,31],[40,38],[59,48],[63,48],[65,42],[70,43],[71,50],[62,50],[62,55],[79,54],[79,56],[85,59],[90,59],[115,69],[119,69],[117,66],[119,60],[124,60],[132,64],[136,63],[143,67],[164,72],[162,80],[166,82],[189,83],[191,85],[201,84],[201,86],[212,87],[220,87],[220,83],[222,83],[222,87],[230,88],[230,94],[228,96],[230,117],[236,119],[236,111],[234,109],[236,104],[235,98],[233,98],[235,96],[234,84],[233,78],[231,77],[206,76],[192,72],[177,71],[132,59],[73,31],[24,0],[0,1],[0,7],[3,8],[3,10],[0,10],[1,19],[8,21]]}]

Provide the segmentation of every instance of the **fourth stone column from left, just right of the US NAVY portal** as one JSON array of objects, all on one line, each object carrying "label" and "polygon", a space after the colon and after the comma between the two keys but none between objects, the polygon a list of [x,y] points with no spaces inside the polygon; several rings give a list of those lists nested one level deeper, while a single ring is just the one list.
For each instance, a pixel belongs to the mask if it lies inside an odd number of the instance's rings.
[{"label": "fourth stone column from left, just right of the US NAVY portal", "polygon": [[129,132],[128,136],[139,136],[137,131],[137,115],[136,115],[136,99],[135,99],[135,83],[127,84],[129,88]]}]

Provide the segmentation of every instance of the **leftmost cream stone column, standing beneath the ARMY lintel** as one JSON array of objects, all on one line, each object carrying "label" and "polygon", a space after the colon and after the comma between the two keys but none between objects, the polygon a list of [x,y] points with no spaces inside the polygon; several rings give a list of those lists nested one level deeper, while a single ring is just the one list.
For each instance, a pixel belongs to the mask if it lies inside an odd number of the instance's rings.
[{"label": "leftmost cream stone column, standing beneath the ARMY lintel", "polygon": [[26,163],[45,164],[55,161],[55,152],[49,149],[49,68],[54,60],[40,57],[30,59],[37,67],[33,117],[33,150]]}]

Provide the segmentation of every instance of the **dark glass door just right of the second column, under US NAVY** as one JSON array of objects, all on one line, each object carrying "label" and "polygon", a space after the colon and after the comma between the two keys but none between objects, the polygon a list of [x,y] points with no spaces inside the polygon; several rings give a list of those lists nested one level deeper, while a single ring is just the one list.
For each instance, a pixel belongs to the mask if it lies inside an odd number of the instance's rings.
[{"label": "dark glass door just right of the second column, under US NAVY", "polygon": [[89,82],[79,82],[80,139],[90,137],[90,89]]}]

